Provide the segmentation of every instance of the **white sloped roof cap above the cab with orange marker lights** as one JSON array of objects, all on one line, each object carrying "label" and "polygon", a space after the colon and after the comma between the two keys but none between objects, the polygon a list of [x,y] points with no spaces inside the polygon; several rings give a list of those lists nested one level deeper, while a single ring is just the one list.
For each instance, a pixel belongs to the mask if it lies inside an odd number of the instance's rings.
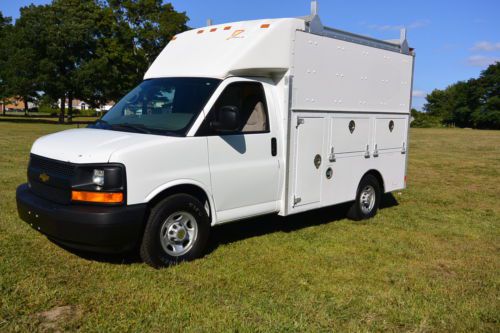
[{"label": "white sloped roof cap above the cab with orange marker lights", "polygon": [[244,21],[181,33],[160,53],[144,76],[213,77],[286,72],[292,63],[301,19]]}]

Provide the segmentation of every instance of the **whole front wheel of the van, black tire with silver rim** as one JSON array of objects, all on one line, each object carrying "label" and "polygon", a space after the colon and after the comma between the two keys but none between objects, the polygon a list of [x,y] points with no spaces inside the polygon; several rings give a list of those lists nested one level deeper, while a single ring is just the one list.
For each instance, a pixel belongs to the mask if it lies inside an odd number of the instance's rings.
[{"label": "whole front wheel of the van, black tire with silver rim", "polygon": [[163,199],[151,210],[140,255],[155,268],[201,257],[210,234],[210,221],[202,203],[188,194]]}]

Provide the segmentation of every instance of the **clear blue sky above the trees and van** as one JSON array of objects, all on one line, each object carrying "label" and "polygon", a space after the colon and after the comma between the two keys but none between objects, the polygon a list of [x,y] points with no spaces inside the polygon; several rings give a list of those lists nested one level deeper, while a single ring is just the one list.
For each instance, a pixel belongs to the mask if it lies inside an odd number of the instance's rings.
[{"label": "clear blue sky above the trees and van", "polygon": [[[50,0],[0,0],[0,11],[18,17],[19,7]],[[176,0],[191,27],[260,18],[296,17],[309,13],[309,0]],[[319,0],[323,24],[382,39],[399,37],[408,28],[416,49],[414,106],[424,96],[459,81],[477,77],[481,70],[500,61],[500,0]]]}]

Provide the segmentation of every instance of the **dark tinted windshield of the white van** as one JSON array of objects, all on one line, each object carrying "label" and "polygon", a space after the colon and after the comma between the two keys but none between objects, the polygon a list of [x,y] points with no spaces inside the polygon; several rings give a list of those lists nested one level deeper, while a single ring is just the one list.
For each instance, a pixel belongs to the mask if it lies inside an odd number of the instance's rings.
[{"label": "dark tinted windshield of the white van", "polygon": [[185,136],[219,83],[206,78],[143,81],[90,127]]}]

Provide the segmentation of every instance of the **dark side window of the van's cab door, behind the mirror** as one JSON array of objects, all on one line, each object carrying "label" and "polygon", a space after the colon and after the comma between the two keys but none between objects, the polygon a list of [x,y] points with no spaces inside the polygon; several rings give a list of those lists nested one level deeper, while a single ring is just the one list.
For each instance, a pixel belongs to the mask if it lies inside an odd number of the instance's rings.
[{"label": "dark side window of the van's cab door, behind the mirror", "polygon": [[[223,107],[236,107],[240,114],[238,129],[232,132],[217,133],[211,123],[217,110]],[[235,82],[226,87],[210,110],[207,118],[198,130],[197,136],[257,134],[269,132],[269,117],[267,111],[264,87],[258,82]]]}]

